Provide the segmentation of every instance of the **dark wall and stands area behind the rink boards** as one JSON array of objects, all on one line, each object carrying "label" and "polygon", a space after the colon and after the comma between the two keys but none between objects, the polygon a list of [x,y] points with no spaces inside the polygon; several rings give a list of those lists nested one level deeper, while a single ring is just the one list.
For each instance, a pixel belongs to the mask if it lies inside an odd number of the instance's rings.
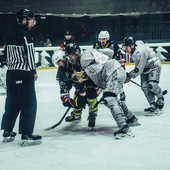
[{"label": "dark wall and stands area behind the rink boards", "polygon": [[[40,46],[42,37],[48,37],[52,46],[59,46],[67,30],[80,45],[92,45],[101,30],[110,33],[111,40],[121,43],[126,36],[133,36],[145,43],[170,42],[170,14],[118,15],[100,17],[58,17],[36,15],[37,24],[32,32],[35,46]],[[16,26],[14,14],[0,15],[0,46]],[[164,47],[169,52],[169,47]],[[162,53],[168,60],[169,53]]]}]

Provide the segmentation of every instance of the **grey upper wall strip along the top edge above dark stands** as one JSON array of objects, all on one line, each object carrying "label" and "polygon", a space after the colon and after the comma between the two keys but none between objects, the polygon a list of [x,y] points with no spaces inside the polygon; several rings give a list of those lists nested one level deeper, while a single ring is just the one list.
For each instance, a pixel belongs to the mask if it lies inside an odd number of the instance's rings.
[{"label": "grey upper wall strip along the top edge above dark stands", "polygon": [[131,12],[164,12],[170,9],[169,0],[1,0],[0,12],[16,12],[31,8],[35,13],[55,15],[95,15]]}]

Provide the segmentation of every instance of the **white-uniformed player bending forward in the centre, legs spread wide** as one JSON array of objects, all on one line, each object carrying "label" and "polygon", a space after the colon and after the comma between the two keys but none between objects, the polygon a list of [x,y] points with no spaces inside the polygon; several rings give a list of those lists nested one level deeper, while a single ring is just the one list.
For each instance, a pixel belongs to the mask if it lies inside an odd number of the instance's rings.
[{"label": "white-uniformed player bending forward in the centre, legs spread wide", "polygon": [[114,136],[120,139],[133,136],[128,124],[137,124],[138,119],[127,108],[124,101],[118,99],[118,94],[126,79],[126,72],[118,61],[112,59],[111,49],[90,49],[81,52],[80,48],[72,46],[73,52],[69,54],[72,62],[80,60],[81,66],[90,79],[103,89],[105,105],[110,109],[119,130]]}]

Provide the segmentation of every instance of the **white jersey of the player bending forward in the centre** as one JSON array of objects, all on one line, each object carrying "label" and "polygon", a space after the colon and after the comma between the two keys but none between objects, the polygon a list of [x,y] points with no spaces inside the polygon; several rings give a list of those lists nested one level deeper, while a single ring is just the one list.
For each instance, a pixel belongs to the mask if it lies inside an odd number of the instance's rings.
[{"label": "white jersey of the player bending forward in the centre", "polygon": [[86,74],[100,88],[105,88],[108,77],[121,65],[113,57],[113,50],[90,49],[84,51],[80,63]]}]

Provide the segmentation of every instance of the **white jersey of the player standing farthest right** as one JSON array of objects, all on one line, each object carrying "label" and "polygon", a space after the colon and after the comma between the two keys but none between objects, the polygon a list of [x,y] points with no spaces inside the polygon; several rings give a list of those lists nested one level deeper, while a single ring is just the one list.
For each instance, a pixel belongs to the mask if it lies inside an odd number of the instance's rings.
[{"label": "white jersey of the player standing farthest right", "polygon": [[161,68],[161,62],[157,54],[143,41],[136,41],[136,49],[132,54],[132,60],[135,62],[135,68],[129,73],[131,78],[147,74],[158,67]]}]

